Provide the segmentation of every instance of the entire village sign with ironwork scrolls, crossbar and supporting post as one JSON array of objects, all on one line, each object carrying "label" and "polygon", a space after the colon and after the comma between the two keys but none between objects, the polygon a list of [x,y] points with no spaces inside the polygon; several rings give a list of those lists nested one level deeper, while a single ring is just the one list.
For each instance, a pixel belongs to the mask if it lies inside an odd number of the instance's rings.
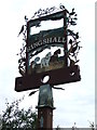
[{"label": "entire village sign with ironwork scrolls, crossbar and supporting post", "polygon": [[[57,84],[70,83],[81,80],[80,67],[77,65],[79,60],[77,55],[80,50],[79,35],[74,34],[68,26],[75,25],[77,14],[74,9],[69,13],[64,5],[61,11],[55,11],[55,8],[39,10],[33,17],[27,21],[26,31],[26,54],[19,60],[19,73],[22,77],[15,79],[15,91],[27,91],[39,89],[38,101],[38,129],[53,129],[53,92],[52,88]],[[72,16],[74,17],[72,18]],[[40,30],[32,34],[33,27],[40,27],[42,22],[60,21],[63,27]],[[45,77],[46,82],[43,82]]]}]

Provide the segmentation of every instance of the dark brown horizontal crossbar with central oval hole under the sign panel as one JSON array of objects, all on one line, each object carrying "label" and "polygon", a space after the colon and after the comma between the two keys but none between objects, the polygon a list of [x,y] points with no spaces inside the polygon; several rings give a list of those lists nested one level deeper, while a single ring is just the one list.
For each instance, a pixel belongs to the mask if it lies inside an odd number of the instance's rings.
[{"label": "dark brown horizontal crossbar with central oval hole under the sign panel", "polygon": [[75,82],[81,80],[80,67],[78,65],[64,67],[55,70],[26,75],[24,77],[17,77],[15,79],[15,91],[26,91],[31,89],[39,89],[43,84],[41,81],[43,77],[50,76],[50,80],[46,83],[51,86]]}]

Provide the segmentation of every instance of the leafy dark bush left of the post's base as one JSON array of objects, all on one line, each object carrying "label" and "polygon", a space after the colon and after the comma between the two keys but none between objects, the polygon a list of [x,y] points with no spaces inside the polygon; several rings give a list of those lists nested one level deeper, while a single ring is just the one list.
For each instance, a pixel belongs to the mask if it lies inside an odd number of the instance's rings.
[{"label": "leafy dark bush left of the post's base", "polygon": [[17,129],[32,129],[37,127],[37,113],[29,107],[27,110],[19,109],[18,104],[22,100],[16,100],[9,104],[6,102],[6,108],[2,114],[2,129],[1,130],[17,130]]}]

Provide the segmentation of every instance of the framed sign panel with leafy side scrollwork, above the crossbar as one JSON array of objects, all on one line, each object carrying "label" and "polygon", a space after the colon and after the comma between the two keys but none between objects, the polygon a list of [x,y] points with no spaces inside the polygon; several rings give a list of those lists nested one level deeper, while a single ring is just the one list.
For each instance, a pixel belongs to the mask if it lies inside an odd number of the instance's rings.
[{"label": "framed sign panel with leafy side scrollwork, above the crossbar", "polygon": [[23,56],[19,61],[22,75],[25,72],[29,75],[55,70],[79,62],[77,57],[82,48],[79,46],[79,32],[70,29],[71,25],[77,25],[77,14],[65,11],[27,22],[26,61]]}]

